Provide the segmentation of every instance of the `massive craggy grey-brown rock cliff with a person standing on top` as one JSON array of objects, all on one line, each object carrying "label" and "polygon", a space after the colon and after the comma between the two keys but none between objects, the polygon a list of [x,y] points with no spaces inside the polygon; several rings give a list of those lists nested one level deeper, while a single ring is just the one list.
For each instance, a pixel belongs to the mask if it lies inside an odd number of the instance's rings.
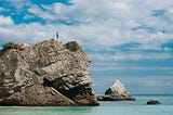
[{"label": "massive craggy grey-brown rock cliff with a person standing on top", "polygon": [[98,105],[89,64],[76,41],[9,43],[0,51],[0,105]]}]

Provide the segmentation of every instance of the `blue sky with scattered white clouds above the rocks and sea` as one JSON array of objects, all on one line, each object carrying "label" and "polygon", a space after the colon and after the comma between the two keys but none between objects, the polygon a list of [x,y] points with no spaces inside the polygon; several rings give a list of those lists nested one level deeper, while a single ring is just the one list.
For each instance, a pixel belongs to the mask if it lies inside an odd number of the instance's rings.
[{"label": "blue sky with scattered white clouds above the rocks and sea", "polygon": [[76,40],[94,91],[120,79],[132,94],[173,94],[173,0],[0,0],[0,46]]}]

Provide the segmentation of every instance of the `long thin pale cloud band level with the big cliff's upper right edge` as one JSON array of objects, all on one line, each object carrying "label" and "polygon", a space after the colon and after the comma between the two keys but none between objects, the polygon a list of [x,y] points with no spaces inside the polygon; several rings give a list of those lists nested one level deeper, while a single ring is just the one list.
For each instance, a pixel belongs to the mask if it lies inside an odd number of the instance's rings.
[{"label": "long thin pale cloud band level with the big cliff's upper right edge", "polygon": [[91,53],[89,54],[91,59],[96,59],[97,61],[138,61],[138,60],[167,60],[172,59],[173,55],[170,53],[156,53],[156,52],[122,52],[117,51],[116,53]]}]

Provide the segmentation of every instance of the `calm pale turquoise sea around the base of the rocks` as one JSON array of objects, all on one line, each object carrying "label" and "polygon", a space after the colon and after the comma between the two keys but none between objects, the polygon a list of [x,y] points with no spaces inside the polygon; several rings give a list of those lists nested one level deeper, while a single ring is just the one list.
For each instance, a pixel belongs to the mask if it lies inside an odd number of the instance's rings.
[{"label": "calm pale turquoise sea around the base of the rocks", "polygon": [[[173,115],[173,95],[135,95],[136,101],[99,102],[99,106],[0,106],[0,115]],[[160,105],[146,105],[158,100]]]}]

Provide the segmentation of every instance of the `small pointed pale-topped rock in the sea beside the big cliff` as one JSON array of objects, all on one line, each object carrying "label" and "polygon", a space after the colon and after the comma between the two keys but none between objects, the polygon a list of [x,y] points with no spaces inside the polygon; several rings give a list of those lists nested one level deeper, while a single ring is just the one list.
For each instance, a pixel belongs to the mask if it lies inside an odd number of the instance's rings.
[{"label": "small pointed pale-topped rock in the sea beside the big cliff", "polygon": [[123,101],[123,100],[135,100],[124,86],[117,79],[114,81],[112,86],[109,87],[105,95],[97,95],[98,101]]}]

